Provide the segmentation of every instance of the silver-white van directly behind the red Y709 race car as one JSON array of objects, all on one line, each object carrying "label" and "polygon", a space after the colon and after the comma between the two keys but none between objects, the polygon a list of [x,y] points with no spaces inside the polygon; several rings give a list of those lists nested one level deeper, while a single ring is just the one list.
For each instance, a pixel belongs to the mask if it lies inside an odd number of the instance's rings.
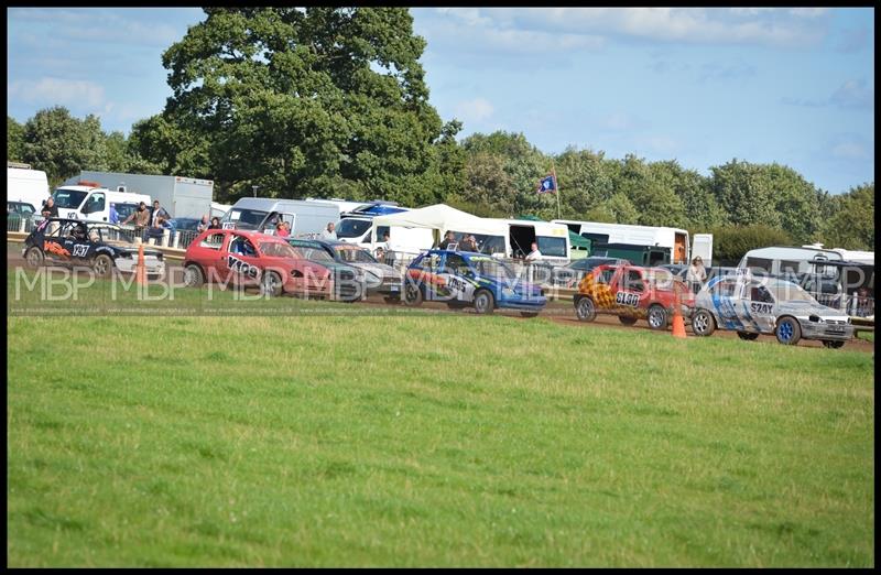
[{"label": "silver-white van directly behind the red Y709 race car", "polygon": [[291,226],[292,237],[320,234],[339,219],[339,206],[305,199],[243,197],[220,219],[224,228],[253,229],[274,234],[279,221]]}]

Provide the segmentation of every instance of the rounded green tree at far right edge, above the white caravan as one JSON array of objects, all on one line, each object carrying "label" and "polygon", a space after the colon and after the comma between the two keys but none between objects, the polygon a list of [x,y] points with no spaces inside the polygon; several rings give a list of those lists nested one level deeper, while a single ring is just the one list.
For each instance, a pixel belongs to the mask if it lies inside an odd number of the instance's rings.
[{"label": "rounded green tree at far right edge, above the white caravan", "polygon": [[838,197],[837,209],[819,235],[829,248],[874,251],[874,182]]}]

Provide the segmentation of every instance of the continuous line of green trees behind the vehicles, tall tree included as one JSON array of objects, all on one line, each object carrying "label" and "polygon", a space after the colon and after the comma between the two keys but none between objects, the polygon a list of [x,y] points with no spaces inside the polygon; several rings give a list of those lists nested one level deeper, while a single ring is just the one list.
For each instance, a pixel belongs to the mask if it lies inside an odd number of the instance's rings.
[{"label": "continuous line of green trees behind the vehicles, tall tree included", "polygon": [[[128,138],[63,107],[7,117],[9,159],[57,184],[80,170],[215,181],[216,199],[261,196],[446,203],[479,216],[557,216],[535,193],[557,174],[564,218],[673,226],[746,243],[873,249],[874,183],[831,195],[777,163],[733,159],[703,175],[675,160],[474,133],[428,102],[425,40],[403,8],[207,8],[162,61],[173,95]],[[749,249],[749,248],[748,248]],[[741,252],[742,253],[742,252]],[[725,258],[724,258],[725,259]]]}]

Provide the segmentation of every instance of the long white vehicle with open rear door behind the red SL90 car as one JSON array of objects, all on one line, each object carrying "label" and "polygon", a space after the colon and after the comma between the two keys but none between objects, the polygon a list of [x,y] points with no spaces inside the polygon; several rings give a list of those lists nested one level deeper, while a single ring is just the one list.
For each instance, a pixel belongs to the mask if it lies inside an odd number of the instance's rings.
[{"label": "long white vehicle with open rear door behind the red SL90 car", "polygon": [[[592,240],[595,243],[629,243],[634,246],[650,246],[670,248],[670,263],[687,264],[692,260],[692,246],[688,231],[679,228],[631,226],[629,224],[602,224],[597,221],[578,221],[569,219],[553,219],[553,224],[563,224],[575,234]],[[709,265],[713,261],[713,236],[700,234],[699,254],[704,263]],[[697,235],[695,236],[697,240]],[[709,248],[709,249],[708,249]],[[709,257],[708,257],[709,256]]]}]

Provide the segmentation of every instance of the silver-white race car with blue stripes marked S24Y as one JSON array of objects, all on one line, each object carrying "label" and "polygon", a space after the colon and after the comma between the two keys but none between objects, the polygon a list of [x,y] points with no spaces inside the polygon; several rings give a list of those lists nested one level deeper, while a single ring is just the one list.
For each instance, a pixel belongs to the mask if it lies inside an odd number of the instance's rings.
[{"label": "silver-white race car with blue stripes marked S24Y", "polygon": [[779,278],[753,278],[743,271],[717,276],[697,293],[692,330],[697,336],[732,329],[741,339],[774,334],[783,345],[819,339],[839,348],[853,337],[846,314],[818,303],[800,285]]}]

